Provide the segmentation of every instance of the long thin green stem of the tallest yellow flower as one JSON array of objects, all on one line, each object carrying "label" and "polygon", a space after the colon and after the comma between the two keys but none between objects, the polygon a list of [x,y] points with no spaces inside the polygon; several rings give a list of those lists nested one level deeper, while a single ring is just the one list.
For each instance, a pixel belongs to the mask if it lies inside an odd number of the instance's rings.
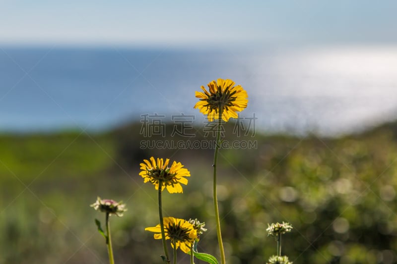
[{"label": "long thin green stem of the tallest yellow flower", "polygon": [[214,209],[215,209],[215,220],[216,220],[216,235],[218,236],[218,244],[219,244],[219,253],[221,264],[226,264],[225,261],[225,250],[223,249],[222,242],[222,234],[220,232],[220,220],[219,220],[219,210],[218,210],[218,198],[217,198],[217,190],[216,190],[216,166],[218,162],[218,151],[220,148],[220,132],[221,132],[221,120],[222,120],[222,110],[219,110],[218,117],[218,133],[216,135],[216,144],[215,144],[215,153],[214,153],[214,177],[213,177],[213,200],[214,200]]}]

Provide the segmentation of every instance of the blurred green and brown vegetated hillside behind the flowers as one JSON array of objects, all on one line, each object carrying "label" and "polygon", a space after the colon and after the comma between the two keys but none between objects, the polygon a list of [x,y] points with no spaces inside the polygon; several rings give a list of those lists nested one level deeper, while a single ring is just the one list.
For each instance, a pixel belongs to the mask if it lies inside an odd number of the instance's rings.
[{"label": "blurred green and brown vegetated hillside behind the flowers", "polygon": [[[1,135],[0,263],[107,263],[94,224],[104,215],[89,207],[97,196],[123,200],[129,210],[111,218],[116,262],[161,263],[161,242],[144,231],[158,223],[157,193],[138,175],[151,156],[191,171],[183,194],[164,192],[164,214],[205,221],[199,251],[217,256],[213,151],[202,149],[212,133],[163,129],[164,136],[144,135],[139,123],[103,134]],[[276,252],[265,229],[276,221],[294,226],[283,237],[283,254],[294,264],[397,262],[397,123],[336,139],[241,132],[225,126],[224,142],[240,143],[219,159],[228,263],[265,263]]]}]

